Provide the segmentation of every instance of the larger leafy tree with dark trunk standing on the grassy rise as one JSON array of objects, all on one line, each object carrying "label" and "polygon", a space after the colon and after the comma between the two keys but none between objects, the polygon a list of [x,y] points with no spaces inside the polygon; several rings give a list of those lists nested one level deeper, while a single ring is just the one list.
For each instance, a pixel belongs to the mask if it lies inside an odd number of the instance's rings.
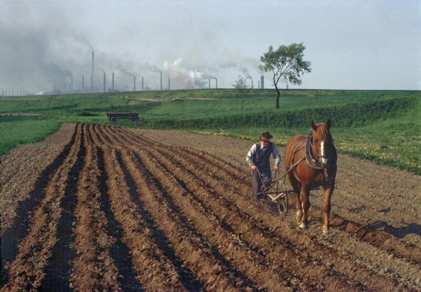
[{"label": "larger leafy tree with dark trunk standing on the grassy rise", "polygon": [[282,79],[290,84],[300,85],[302,83],[301,75],[305,72],[311,72],[311,63],[303,59],[305,49],[303,43],[280,45],[276,51],[274,51],[273,46],[269,46],[269,51],[260,57],[263,65],[259,65],[259,69],[265,72],[272,71],[274,74],[277,109],[279,109],[279,96],[281,95],[278,88],[279,80]]}]

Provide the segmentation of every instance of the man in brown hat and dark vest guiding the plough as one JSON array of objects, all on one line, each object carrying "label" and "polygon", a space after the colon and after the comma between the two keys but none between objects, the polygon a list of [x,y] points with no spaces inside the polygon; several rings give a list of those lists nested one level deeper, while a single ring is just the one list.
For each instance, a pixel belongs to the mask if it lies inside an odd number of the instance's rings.
[{"label": "man in brown hat and dark vest guiding the plough", "polygon": [[[252,182],[254,201],[259,202],[263,199],[262,196],[258,196],[257,193],[261,191],[262,183],[264,187],[270,185],[272,180],[272,174],[270,171],[270,155],[275,159],[274,169],[279,169],[281,163],[281,156],[279,155],[278,149],[274,142],[270,139],[273,138],[269,132],[263,132],[260,136],[260,142],[253,144],[250,151],[247,153],[245,160],[252,169]],[[261,176],[261,177],[260,177]]]}]

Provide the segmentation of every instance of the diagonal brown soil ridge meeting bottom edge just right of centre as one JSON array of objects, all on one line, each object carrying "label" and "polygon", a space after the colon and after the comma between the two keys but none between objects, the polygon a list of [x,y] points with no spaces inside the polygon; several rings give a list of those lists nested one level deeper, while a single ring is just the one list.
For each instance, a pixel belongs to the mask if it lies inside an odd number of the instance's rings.
[{"label": "diagonal brown soil ridge meeting bottom edge just right of centre", "polygon": [[[139,154],[144,155],[143,151]],[[161,185],[165,178],[152,174],[136,153],[125,158],[125,163],[134,177],[144,207],[165,232],[176,255],[183,261],[184,269],[191,269],[205,285],[205,290],[236,290],[238,285],[256,289],[247,277],[233,269],[230,261],[193,228],[191,219],[184,216],[172,201],[168,193],[173,191],[172,187]]]}]

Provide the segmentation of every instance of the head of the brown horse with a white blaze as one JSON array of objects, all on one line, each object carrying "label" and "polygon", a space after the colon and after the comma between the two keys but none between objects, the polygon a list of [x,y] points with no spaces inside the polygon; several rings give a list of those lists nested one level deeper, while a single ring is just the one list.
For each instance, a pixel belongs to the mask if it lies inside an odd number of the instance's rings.
[{"label": "head of the brown horse with a white blaze", "polygon": [[326,123],[314,123],[311,121],[313,149],[318,155],[319,164],[323,168],[329,168],[330,164],[336,163],[336,150],[330,134],[331,121]]}]

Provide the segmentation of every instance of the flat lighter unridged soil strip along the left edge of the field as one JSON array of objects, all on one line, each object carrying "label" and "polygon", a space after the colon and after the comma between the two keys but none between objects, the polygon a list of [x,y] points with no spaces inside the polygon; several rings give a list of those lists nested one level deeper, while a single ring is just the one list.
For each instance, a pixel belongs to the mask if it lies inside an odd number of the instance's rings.
[{"label": "flat lighter unridged soil strip along the left edge of the field", "polygon": [[[65,123],[60,126],[58,132],[44,141],[22,145],[0,157],[2,248],[8,243],[9,237],[14,237],[5,236],[6,239],[3,239],[5,232],[14,233],[14,230],[17,232],[19,228],[26,230],[21,221],[27,218],[28,212],[33,211],[33,204],[36,205],[42,200],[43,188],[48,183],[48,177],[67,156],[70,145],[74,143],[75,134],[76,125]],[[17,215],[19,218],[16,219]],[[14,246],[16,245],[17,242]],[[2,251],[2,255],[5,253]]]}]

